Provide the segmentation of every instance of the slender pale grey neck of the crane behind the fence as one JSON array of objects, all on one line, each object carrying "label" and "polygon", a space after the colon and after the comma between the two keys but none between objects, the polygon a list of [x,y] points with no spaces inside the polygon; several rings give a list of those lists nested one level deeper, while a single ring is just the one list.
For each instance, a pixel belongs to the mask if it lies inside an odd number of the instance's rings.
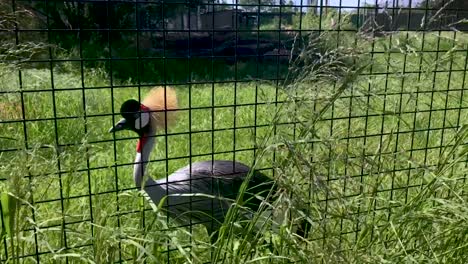
[{"label": "slender pale grey neck of the crane behind the fence", "polygon": [[137,143],[137,154],[133,167],[133,179],[135,180],[136,186],[139,188],[143,181],[145,181],[145,185],[154,183],[154,180],[151,177],[145,177],[145,169],[148,164],[151,151],[154,147],[154,141],[154,133],[148,132],[143,134]]}]

